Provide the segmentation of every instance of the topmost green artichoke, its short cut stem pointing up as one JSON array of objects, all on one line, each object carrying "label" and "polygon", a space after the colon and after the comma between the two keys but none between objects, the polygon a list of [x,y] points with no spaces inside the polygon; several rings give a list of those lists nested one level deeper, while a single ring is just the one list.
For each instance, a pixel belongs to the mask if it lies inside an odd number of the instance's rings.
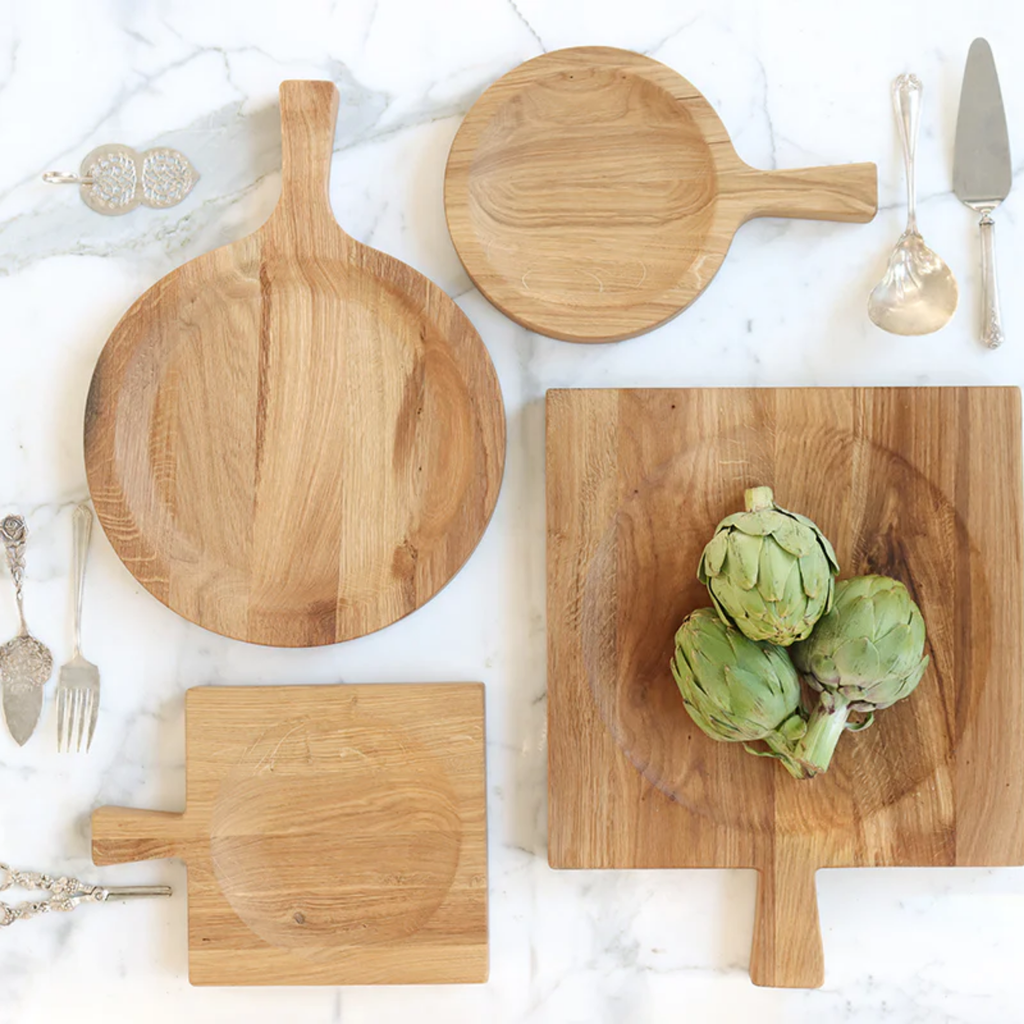
[{"label": "topmost green artichoke, its short cut stem pointing up", "polygon": [[836,552],[810,519],[778,508],[770,487],[752,487],[744,503],[718,524],[697,579],[723,622],[788,647],[831,607]]}]

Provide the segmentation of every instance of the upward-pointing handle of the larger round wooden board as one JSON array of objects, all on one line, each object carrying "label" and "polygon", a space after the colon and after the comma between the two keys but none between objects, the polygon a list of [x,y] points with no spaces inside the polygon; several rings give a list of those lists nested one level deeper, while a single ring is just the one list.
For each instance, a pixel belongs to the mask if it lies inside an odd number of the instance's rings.
[{"label": "upward-pointing handle of the larger round wooden board", "polygon": [[281,200],[271,223],[326,219],[337,228],[328,195],[337,120],[333,82],[281,83]]}]

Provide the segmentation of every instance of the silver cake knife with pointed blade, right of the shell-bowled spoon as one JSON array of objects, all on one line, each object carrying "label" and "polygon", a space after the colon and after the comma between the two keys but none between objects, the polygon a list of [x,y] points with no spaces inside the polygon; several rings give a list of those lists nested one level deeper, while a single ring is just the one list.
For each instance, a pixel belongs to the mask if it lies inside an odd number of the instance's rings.
[{"label": "silver cake knife with pointed blade, right of the shell-bowled spoon", "polygon": [[995,61],[988,43],[976,39],[967,55],[956,116],[953,191],[962,203],[981,214],[981,340],[989,348],[998,348],[1004,341],[992,211],[1009,195],[1012,179],[1007,116]]}]

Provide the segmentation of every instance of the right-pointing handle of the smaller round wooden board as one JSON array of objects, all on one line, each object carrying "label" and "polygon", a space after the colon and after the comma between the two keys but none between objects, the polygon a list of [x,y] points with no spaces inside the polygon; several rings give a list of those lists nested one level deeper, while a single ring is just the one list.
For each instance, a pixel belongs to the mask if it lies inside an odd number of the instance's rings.
[{"label": "right-pointing handle of the smaller round wooden board", "polygon": [[799,217],[862,224],[878,211],[878,178],[874,164],[807,167],[796,171],[757,171],[744,167],[728,176],[723,191],[736,196],[742,220]]}]

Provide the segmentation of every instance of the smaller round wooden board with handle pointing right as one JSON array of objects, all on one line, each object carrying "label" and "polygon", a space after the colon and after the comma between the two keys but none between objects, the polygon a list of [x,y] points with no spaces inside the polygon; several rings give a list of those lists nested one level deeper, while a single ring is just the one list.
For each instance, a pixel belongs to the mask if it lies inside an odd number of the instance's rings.
[{"label": "smaller round wooden board with handle pointing right", "polygon": [[618,341],[685,309],[744,221],[867,221],[878,185],[873,164],[755,170],[671,68],[582,46],[527,60],[476,101],[444,206],[502,312],[565,341]]}]

